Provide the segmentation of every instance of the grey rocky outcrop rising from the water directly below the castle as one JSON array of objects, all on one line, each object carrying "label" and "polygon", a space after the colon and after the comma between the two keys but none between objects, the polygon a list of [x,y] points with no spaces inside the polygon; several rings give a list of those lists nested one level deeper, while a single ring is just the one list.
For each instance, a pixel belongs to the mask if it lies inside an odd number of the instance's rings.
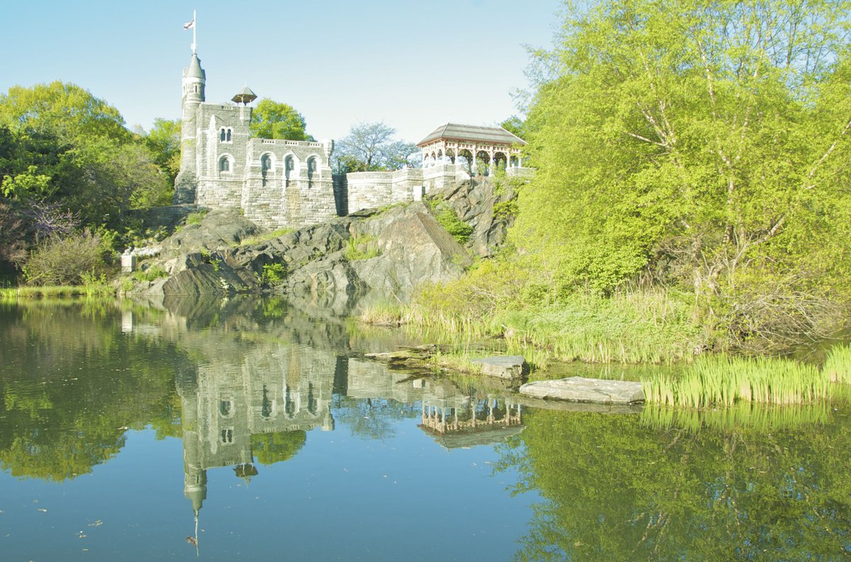
[{"label": "grey rocky outcrop rising from the water directly below the castle", "polygon": [[362,212],[251,243],[248,238],[259,232],[237,212],[211,212],[165,240],[161,254],[144,264],[163,268],[168,277],[141,282],[132,292],[363,295],[375,290],[404,300],[426,281],[460,277],[471,262],[421,203]]}]

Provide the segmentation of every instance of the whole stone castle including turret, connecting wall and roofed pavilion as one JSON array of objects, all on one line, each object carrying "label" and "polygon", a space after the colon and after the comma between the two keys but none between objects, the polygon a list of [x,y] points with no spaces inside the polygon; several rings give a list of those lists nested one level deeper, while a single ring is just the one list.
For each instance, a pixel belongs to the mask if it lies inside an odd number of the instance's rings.
[{"label": "whole stone castle including turret, connecting wall and roofed pavilion", "polygon": [[[360,209],[417,201],[471,175],[505,169],[521,175],[526,143],[499,127],[446,123],[418,146],[422,168],[333,175],[334,141],[252,138],[256,95],[246,87],[236,105],[207,103],[206,73],[194,49],[183,71],[180,173],[174,204],[236,208],[261,227],[304,227]],[[462,163],[463,162],[463,163]]]}]

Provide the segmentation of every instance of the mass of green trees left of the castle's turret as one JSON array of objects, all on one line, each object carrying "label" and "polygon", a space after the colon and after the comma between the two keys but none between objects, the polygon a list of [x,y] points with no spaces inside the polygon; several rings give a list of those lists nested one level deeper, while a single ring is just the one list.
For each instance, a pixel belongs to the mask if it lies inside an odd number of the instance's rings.
[{"label": "mass of green trees left of the castle's turret", "polygon": [[0,197],[14,204],[5,207],[7,219],[29,221],[14,231],[23,238],[5,237],[18,248],[14,255],[45,233],[43,209],[90,230],[122,230],[135,221],[129,209],[169,204],[177,126],[158,120],[151,135],[134,135],[116,108],[71,83],[14,86],[0,95]]}]

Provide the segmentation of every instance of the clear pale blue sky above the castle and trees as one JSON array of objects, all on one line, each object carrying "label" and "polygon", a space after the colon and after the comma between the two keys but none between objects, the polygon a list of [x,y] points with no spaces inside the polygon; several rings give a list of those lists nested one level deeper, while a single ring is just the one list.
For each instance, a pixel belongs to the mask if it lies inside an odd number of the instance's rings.
[{"label": "clear pale blue sky above the castle and trees", "polygon": [[243,85],[294,106],[317,139],[384,121],[407,141],[447,121],[517,113],[524,45],[550,47],[559,0],[400,2],[4,2],[0,92],[55,79],[122,112],[129,127],[180,117],[197,10],[207,100]]}]

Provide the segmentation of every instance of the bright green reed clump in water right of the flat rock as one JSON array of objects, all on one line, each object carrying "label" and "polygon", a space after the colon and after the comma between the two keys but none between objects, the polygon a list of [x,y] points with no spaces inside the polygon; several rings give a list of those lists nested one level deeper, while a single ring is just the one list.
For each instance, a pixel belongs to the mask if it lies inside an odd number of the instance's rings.
[{"label": "bright green reed clump in water right of the flat rock", "polygon": [[660,374],[642,381],[654,404],[691,408],[730,407],[740,402],[810,404],[828,398],[825,370],[784,358],[699,358],[683,376]]}]

